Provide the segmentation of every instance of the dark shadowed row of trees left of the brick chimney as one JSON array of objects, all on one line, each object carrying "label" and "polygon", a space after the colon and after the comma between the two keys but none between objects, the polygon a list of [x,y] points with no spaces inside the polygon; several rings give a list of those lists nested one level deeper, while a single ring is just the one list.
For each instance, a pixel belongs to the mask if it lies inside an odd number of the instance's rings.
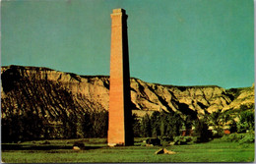
[{"label": "dark shadowed row of trees left of the brick chimney", "polygon": [[10,114],[2,118],[2,142],[17,142],[39,138],[106,137],[108,112],[69,113],[59,123],[49,124],[31,111]]}]

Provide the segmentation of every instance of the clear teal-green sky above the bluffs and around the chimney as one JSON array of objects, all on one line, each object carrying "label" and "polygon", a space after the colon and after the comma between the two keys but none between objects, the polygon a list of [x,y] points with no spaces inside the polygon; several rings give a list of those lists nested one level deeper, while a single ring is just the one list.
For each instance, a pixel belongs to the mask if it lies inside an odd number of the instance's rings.
[{"label": "clear teal-green sky above the bluffs and around the chimney", "polygon": [[254,82],[253,0],[1,2],[1,64],[109,75],[110,14],[128,14],[131,77],[175,85]]}]

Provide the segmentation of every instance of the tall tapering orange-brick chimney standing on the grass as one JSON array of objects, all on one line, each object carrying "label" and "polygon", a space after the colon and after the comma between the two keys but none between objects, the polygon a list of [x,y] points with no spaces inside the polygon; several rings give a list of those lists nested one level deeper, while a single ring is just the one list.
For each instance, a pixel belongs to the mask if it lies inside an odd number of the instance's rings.
[{"label": "tall tapering orange-brick chimney standing on the grass", "polygon": [[[108,145],[128,145],[133,139],[130,133],[129,59],[127,41],[127,15],[123,9],[114,9],[111,14],[111,56]],[[126,82],[127,81],[127,82]]]}]

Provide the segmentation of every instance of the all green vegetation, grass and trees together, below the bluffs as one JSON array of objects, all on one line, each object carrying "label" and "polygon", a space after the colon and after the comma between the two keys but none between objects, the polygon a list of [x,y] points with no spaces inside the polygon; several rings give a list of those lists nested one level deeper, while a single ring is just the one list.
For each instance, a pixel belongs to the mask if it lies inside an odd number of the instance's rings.
[{"label": "all green vegetation, grass and trees together, below the bluffs", "polygon": [[[233,112],[236,112],[235,114]],[[238,121],[234,121],[238,118]],[[133,115],[133,146],[108,147],[106,111],[70,113],[52,125],[32,112],[2,118],[2,161],[46,162],[252,162],[254,161],[254,109],[216,111],[201,119],[181,118],[175,112]],[[224,135],[229,125],[233,134]],[[209,131],[217,130],[217,135]],[[190,137],[181,137],[189,130]],[[97,138],[96,138],[97,137]],[[161,146],[146,146],[143,140],[160,137]],[[58,139],[56,139],[58,138]],[[171,144],[170,144],[171,143]],[[172,144],[173,143],[173,144]],[[74,150],[73,145],[85,145]],[[177,152],[159,154],[160,148]]]}]

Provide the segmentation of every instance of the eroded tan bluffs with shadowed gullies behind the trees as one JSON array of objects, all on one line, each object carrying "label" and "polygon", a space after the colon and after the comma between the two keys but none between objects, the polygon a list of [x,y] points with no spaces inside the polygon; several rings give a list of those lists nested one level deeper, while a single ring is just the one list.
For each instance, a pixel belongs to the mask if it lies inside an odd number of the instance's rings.
[{"label": "eroded tan bluffs with shadowed gullies behind the trees", "polygon": [[[9,66],[2,67],[1,80],[2,117],[32,110],[50,121],[71,112],[108,110],[106,76],[78,76],[47,68]],[[226,91],[216,85],[161,85],[134,78],[130,81],[131,108],[139,116],[164,110],[198,117],[237,107],[243,100],[245,104],[254,103],[253,89],[234,96],[235,89]]]}]

